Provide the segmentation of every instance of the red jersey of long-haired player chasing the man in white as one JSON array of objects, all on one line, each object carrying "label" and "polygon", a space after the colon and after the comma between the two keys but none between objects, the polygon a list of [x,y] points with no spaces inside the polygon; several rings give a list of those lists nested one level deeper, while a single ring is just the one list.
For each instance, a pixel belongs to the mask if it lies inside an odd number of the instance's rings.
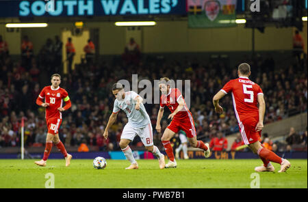
[{"label": "red jersey of long-haired player chasing the man in white", "polygon": [[[170,91],[168,95],[162,94],[160,97],[160,107],[164,108],[165,106],[168,106],[168,109],[173,113],[176,109],[177,106],[179,106],[179,103],[177,102],[179,98],[183,98],[182,93],[179,89],[177,88],[170,88]],[[183,98],[184,100],[184,98]],[[185,102],[185,100],[184,100]],[[188,113],[190,113],[186,103],[181,111],[179,111],[173,119],[183,119],[188,116]]]}]

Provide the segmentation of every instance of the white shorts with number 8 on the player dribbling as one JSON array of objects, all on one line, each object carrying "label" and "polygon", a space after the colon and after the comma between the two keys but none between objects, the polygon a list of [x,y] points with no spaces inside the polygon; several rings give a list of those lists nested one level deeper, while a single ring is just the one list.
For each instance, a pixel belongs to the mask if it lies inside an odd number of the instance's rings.
[{"label": "white shorts with number 8 on the player dribbling", "polygon": [[121,139],[133,141],[136,135],[140,136],[144,146],[149,147],[153,145],[153,129],[151,124],[146,125],[144,128],[133,128],[131,124],[127,123],[121,134]]}]

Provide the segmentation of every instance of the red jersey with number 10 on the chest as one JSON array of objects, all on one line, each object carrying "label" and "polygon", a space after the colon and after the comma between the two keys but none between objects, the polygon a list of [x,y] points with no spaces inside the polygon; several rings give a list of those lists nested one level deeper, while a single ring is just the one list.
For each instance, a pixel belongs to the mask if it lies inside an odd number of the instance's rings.
[{"label": "red jersey with number 10 on the chest", "polygon": [[45,98],[45,102],[49,103],[49,106],[46,107],[46,119],[62,119],[62,113],[57,109],[62,107],[63,100],[69,100],[68,93],[65,89],[57,87],[57,89],[51,89],[51,85],[44,87],[40,91],[40,98]]}]

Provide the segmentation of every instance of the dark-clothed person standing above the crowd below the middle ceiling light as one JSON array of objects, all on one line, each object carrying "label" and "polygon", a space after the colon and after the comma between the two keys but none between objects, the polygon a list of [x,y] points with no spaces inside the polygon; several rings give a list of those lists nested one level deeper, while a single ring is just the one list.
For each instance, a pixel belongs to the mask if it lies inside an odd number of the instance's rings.
[{"label": "dark-clothed person standing above the crowd below the middle ceiling light", "polygon": [[126,65],[138,65],[140,63],[140,47],[133,38],[125,46],[122,57]]}]

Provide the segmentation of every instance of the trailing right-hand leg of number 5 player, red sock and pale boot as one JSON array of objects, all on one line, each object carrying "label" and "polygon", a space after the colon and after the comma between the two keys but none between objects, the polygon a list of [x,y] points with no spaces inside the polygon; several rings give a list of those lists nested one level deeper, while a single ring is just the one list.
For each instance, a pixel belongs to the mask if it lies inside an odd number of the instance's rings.
[{"label": "trailing right-hand leg of number 5 player, red sock and pale boot", "polygon": [[291,164],[288,160],[280,158],[279,156],[274,154],[274,152],[262,147],[259,141],[251,143],[250,145],[248,145],[248,147],[251,148],[253,153],[257,154],[261,158],[281,164],[281,169],[280,171],[278,171],[279,173],[285,172],[287,169],[291,167]]}]

